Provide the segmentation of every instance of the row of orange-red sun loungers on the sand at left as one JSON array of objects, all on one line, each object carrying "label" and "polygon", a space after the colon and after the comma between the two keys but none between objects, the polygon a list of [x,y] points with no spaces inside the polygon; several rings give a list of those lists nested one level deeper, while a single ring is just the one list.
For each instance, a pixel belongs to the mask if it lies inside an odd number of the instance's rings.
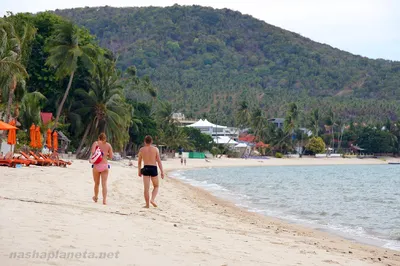
[{"label": "row of orange-red sun loungers on the sand at left", "polygon": [[20,152],[20,156],[12,158],[0,158],[1,166],[16,167],[17,165],[40,165],[40,166],[62,166],[67,167],[71,162],[58,158],[58,155],[48,156],[39,152],[38,154],[30,151],[29,154]]}]

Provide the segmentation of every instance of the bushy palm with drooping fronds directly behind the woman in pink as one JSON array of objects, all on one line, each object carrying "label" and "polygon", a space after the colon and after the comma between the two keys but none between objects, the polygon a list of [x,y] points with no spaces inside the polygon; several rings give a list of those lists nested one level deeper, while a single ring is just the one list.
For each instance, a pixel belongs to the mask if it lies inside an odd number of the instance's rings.
[{"label": "bushy palm with drooping fronds directly behind the woman in pink", "polygon": [[[106,133],[117,149],[122,149],[129,138],[132,108],[125,102],[115,61],[100,59],[96,65],[89,91],[75,91],[74,114],[87,123],[77,154],[81,153],[85,143],[94,141],[101,132]],[[88,152],[80,154],[80,157],[87,155]]]}]

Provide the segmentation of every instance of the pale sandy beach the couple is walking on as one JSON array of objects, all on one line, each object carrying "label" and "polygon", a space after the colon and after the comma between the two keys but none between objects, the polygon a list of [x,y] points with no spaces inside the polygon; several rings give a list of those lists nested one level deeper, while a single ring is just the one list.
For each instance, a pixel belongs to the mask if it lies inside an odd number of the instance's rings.
[{"label": "pale sandy beach the couple is walking on", "polygon": [[[174,170],[382,163],[387,162],[189,159],[184,167],[174,159],[164,165]],[[159,207],[143,209],[137,168],[127,166],[127,161],[111,164],[107,206],[101,199],[91,200],[87,161],[75,160],[68,168],[1,167],[0,265],[400,265],[400,252],[246,212],[171,174],[161,182]],[[12,252],[17,257],[36,252],[47,258],[10,258]],[[49,258],[56,252],[58,258]],[[63,252],[74,252],[75,257],[60,258]],[[113,252],[113,258],[88,258],[98,252]]]}]

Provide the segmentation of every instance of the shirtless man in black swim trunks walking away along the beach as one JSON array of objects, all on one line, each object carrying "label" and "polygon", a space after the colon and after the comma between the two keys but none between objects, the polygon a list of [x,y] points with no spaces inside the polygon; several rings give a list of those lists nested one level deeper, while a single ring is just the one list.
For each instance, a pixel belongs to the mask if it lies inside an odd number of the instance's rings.
[{"label": "shirtless man in black swim trunks walking away along the beach", "polygon": [[[157,164],[161,170],[161,178],[164,179],[164,171],[160,159],[160,152],[158,149],[151,144],[153,143],[153,139],[150,136],[146,136],[144,138],[144,147],[139,150],[139,165],[138,165],[138,176],[143,176],[143,185],[144,185],[144,199],[146,201],[145,208],[153,205],[157,207],[155,203],[155,199],[158,193],[158,172],[157,172]],[[143,160],[143,168],[142,168],[142,160]],[[150,179],[153,183],[153,192],[151,193],[151,200],[149,199],[149,190],[150,190]]]}]

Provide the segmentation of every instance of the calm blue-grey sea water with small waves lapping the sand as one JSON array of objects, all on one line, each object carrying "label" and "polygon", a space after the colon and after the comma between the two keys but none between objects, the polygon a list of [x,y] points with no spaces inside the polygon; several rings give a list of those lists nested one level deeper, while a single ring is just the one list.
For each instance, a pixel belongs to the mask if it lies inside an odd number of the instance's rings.
[{"label": "calm blue-grey sea water with small waves lapping the sand", "polygon": [[209,168],[173,176],[250,211],[400,250],[400,165]]}]

